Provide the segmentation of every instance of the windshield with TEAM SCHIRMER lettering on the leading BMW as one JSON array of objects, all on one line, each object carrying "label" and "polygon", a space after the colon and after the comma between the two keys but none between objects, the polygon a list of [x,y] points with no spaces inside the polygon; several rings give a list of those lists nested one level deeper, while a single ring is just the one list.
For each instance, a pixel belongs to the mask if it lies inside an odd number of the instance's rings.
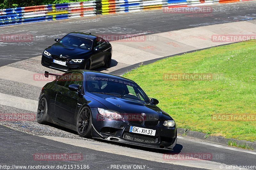
[{"label": "windshield with TEAM SCHIRMER lettering on the leading BMW", "polygon": [[137,84],[115,78],[88,76],[86,91],[141,100],[149,103],[146,93]]}]

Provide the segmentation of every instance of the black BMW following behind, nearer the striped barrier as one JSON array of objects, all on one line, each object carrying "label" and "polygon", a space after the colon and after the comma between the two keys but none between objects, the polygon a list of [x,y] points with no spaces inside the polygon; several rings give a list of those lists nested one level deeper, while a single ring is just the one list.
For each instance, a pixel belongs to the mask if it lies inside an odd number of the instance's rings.
[{"label": "black BMW following behind, nearer the striped barrier", "polygon": [[111,44],[96,35],[72,32],[46,48],[42,65],[55,70],[90,70],[96,67],[110,67]]}]

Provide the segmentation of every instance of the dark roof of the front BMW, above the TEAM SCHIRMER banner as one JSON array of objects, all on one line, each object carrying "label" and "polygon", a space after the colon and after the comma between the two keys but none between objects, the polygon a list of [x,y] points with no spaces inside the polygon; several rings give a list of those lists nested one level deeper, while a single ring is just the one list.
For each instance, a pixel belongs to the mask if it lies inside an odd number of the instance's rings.
[{"label": "dark roof of the front BMW, above the TEAM SCHIRMER banner", "polygon": [[[136,83],[128,78],[124,78],[124,77],[121,77],[121,76],[117,76],[117,75],[114,75],[114,74],[109,74],[109,73],[102,73],[102,72],[99,72],[99,71],[91,71],[91,70],[72,70],[72,71],[68,71],[67,73],[70,73],[70,72],[79,72],[79,73],[82,73],[82,74],[86,74],[86,75],[89,75],[89,76],[102,76],[102,77],[108,77],[108,78],[117,78],[117,79],[120,79],[120,80],[124,80],[124,81],[129,81],[129,82],[132,82],[132,83]],[[136,83],[137,84],[137,83]]]}]

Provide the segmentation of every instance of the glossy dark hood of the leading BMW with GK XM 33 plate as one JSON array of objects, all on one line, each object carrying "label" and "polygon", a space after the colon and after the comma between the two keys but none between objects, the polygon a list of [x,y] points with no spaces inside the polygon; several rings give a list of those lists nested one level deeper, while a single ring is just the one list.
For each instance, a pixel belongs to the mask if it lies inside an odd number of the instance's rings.
[{"label": "glossy dark hood of the leading BMW with GK XM 33 plate", "polygon": [[118,113],[127,115],[135,114],[141,115],[145,113],[147,116],[151,115],[159,120],[172,120],[171,116],[163,112],[159,107],[153,104],[148,104],[141,100],[135,100],[125,97],[117,97],[108,94],[86,93],[86,95],[98,100],[108,110],[113,110]]}]

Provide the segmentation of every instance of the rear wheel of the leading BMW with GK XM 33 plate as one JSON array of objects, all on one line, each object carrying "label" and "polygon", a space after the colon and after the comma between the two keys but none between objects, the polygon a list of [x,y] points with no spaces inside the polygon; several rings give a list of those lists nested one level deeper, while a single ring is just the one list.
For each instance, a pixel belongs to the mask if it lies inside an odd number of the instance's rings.
[{"label": "rear wheel of the leading BMW with GK XM 33 plate", "polygon": [[37,113],[36,113],[36,122],[40,124],[46,124],[47,123],[47,100],[45,97],[41,98],[39,101],[39,105],[37,107]]}]

